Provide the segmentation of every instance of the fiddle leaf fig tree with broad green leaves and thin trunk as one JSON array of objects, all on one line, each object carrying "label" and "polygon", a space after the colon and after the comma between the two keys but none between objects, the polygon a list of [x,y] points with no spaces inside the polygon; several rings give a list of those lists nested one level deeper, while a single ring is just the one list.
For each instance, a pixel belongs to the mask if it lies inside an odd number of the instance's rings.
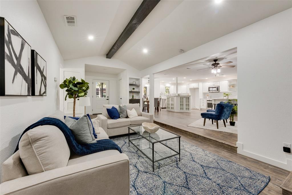
[{"label": "fiddle leaf fig tree with broad green leaves and thin trunk", "polygon": [[89,89],[88,82],[81,79],[81,81],[77,80],[75,77],[70,77],[69,79],[64,80],[60,84],[61,89],[66,89],[66,96],[65,101],[67,100],[67,97],[69,99],[74,99],[73,101],[73,117],[75,117],[75,105],[76,105],[76,99],[79,97],[86,97],[87,91]]}]

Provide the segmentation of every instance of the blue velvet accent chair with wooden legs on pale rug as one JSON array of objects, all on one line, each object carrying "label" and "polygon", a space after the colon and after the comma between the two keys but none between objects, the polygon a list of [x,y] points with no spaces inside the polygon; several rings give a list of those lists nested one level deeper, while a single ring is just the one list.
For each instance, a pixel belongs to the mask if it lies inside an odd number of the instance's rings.
[{"label": "blue velvet accent chair with wooden legs on pale rug", "polygon": [[[233,105],[229,103],[218,103],[215,110],[207,110],[207,112],[201,113],[202,118],[204,118],[204,126],[206,123],[206,118],[212,120],[215,120],[217,129],[218,129],[218,120],[223,120],[224,126],[226,127],[225,120],[227,122],[227,119],[230,116],[230,113],[232,111]],[[213,111],[213,112],[212,112]]]}]

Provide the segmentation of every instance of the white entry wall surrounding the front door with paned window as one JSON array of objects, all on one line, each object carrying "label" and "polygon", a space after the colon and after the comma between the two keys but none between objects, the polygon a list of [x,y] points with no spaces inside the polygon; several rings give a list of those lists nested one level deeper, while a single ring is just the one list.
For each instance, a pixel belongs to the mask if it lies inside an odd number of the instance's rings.
[{"label": "white entry wall surrounding the front door with paned window", "polygon": [[89,91],[87,97],[90,97],[91,106],[86,106],[86,114],[92,114],[92,80],[108,80],[109,81],[109,104],[117,105],[117,75],[101,74],[101,73],[88,73],[85,72],[85,81],[89,82]]}]

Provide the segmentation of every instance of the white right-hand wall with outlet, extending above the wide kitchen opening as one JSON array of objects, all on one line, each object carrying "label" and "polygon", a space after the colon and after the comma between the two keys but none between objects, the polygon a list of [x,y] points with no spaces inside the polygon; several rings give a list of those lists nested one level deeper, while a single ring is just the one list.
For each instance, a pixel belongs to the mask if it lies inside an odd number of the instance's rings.
[{"label": "white right-hand wall with outlet, extending above the wide kitchen opening", "polygon": [[238,153],[292,170],[292,8],[141,71],[157,73],[237,47]]}]

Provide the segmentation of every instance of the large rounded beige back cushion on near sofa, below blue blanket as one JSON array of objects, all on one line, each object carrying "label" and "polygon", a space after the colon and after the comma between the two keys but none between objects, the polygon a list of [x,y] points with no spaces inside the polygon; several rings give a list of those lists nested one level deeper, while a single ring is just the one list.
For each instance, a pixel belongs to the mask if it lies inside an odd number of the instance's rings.
[{"label": "large rounded beige back cushion on near sofa, below blue blanket", "polygon": [[19,154],[27,173],[32,175],[67,166],[70,149],[58,127],[43,125],[23,134]]}]

